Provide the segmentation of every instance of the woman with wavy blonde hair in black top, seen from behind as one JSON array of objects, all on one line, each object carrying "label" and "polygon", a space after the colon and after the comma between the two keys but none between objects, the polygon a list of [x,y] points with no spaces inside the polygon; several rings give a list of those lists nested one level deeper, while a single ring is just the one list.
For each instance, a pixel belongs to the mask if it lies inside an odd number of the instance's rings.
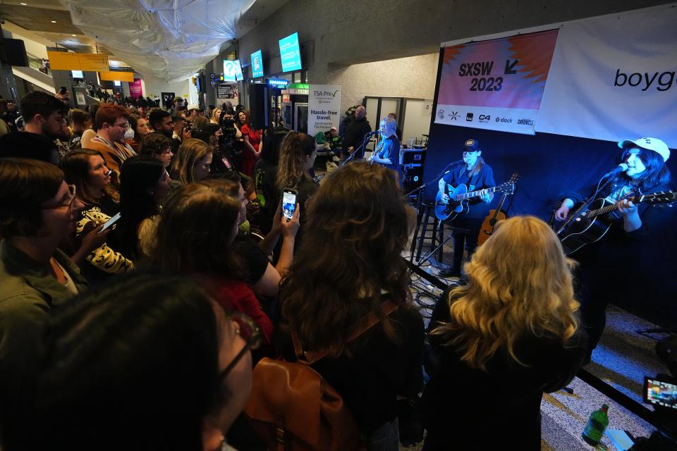
[{"label": "woman with wavy blonde hair in black top, seen from behind", "polygon": [[423,450],[541,449],[542,393],[585,357],[572,264],[533,216],[502,221],[477,249],[429,326],[439,364],[423,393]]}]

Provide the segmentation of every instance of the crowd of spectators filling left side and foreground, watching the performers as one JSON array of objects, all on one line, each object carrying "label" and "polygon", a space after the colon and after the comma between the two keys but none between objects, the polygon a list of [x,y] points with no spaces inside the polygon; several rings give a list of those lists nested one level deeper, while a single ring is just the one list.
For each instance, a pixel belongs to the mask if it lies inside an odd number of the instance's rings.
[{"label": "crowd of spectators filling left side and foreground, watching the performers", "polygon": [[425,450],[539,449],[542,393],[585,356],[573,263],[539,219],[501,223],[426,331],[390,141],[319,185],[315,137],[255,130],[240,106],[80,111],[32,92],[20,114],[0,137],[4,449],[265,449],[242,413],[252,368],[296,345],[326,354],[312,368],[365,449],[424,427]]}]

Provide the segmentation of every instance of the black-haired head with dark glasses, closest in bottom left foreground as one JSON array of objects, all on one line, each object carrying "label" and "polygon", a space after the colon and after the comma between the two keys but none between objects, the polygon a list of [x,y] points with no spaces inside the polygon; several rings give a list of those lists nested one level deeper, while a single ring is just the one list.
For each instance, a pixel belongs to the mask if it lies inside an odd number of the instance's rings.
[{"label": "black-haired head with dark glasses, closest in bottom left foreground", "polygon": [[91,290],[47,326],[35,378],[20,385],[32,408],[9,418],[6,450],[228,449],[259,336],[187,278]]}]

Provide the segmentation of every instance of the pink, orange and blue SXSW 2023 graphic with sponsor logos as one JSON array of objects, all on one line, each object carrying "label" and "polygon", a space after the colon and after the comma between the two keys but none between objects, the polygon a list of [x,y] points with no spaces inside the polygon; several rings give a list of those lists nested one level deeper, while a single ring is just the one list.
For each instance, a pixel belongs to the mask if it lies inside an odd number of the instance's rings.
[{"label": "pink, orange and blue SXSW 2023 graphic with sponsor logos", "polygon": [[557,32],[446,47],[435,123],[533,135]]}]

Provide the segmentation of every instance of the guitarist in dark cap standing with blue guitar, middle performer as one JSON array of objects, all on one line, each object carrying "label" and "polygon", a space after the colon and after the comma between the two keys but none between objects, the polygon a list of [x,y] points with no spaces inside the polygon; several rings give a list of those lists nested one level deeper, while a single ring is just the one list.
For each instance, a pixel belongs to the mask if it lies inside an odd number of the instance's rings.
[{"label": "guitarist in dark cap standing with blue guitar, middle performer", "polygon": [[[439,179],[441,202],[449,204],[449,187],[466,185],[468,191],[484,190],[496,186],[494,171],[482,159],[482,149],[477,140],[466,140],[463,144],[463,164],[451,169]],[[468,244],[468,257],[475,252],[477,236],[484,217],[489,213],[489,205],[494,199],[493,192],[483,192],[480,196],[470,199],[467,213],[456,216],[453,226],[468,229],[468,233],[454,233],[453,235],[453,264],[439,272],[442,277],[461,277],[463,251]]]}]

